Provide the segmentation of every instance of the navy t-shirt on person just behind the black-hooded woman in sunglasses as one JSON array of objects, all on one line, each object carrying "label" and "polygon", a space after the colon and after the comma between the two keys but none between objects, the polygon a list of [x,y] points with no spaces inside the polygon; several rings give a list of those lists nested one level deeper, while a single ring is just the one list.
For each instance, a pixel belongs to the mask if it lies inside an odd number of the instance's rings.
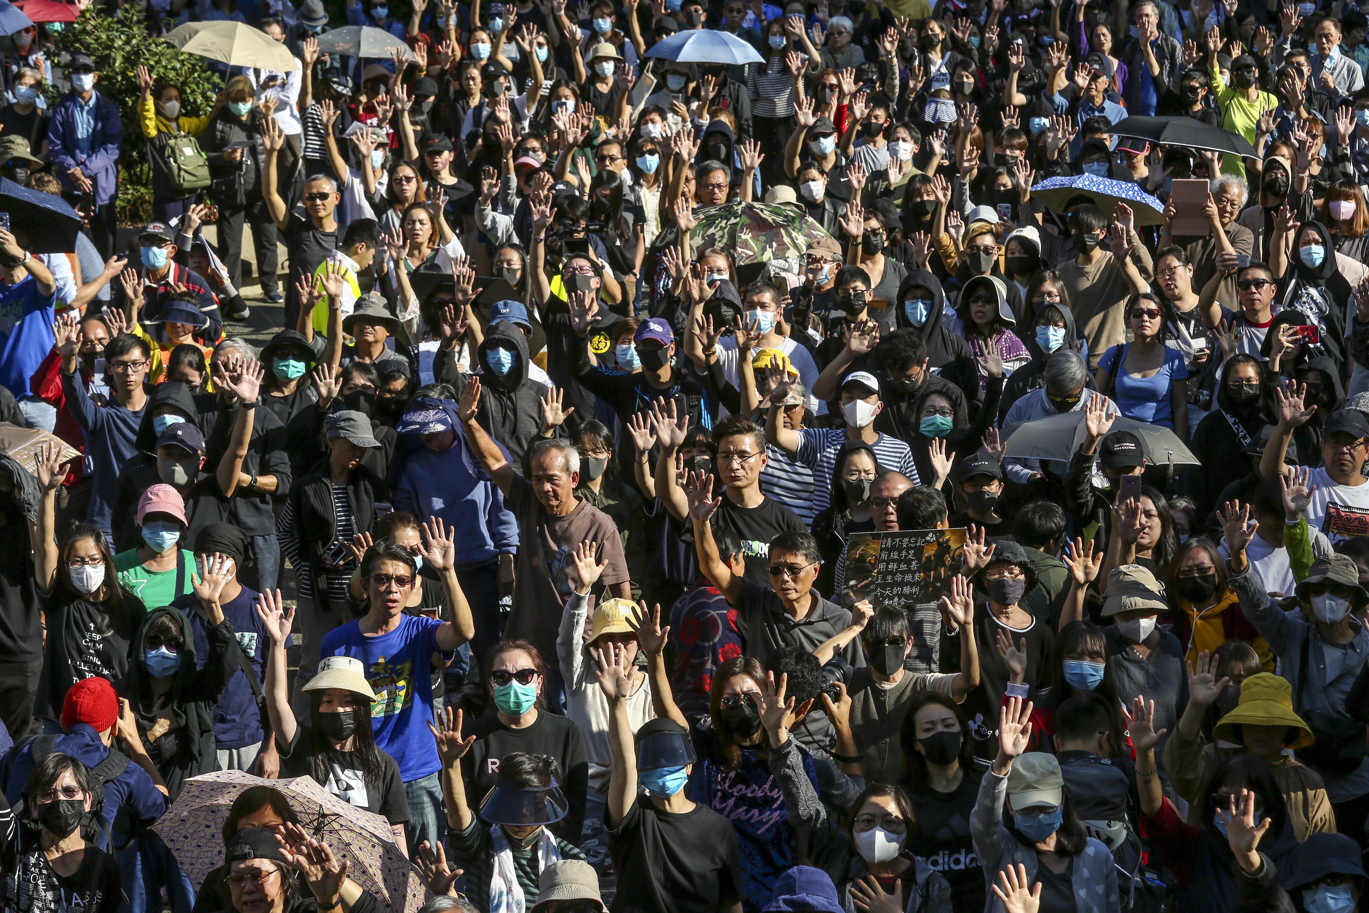
[{"label": "navy t-shirt on person just behind the black-hooded woman in sunglasses", "polygon": [[[233,626],[234,636],[248,657],[248,664],[256,672],[257,684],[264,686],[271,638],[256,613],[257,595],[256,590],[242,587],[235,598],[220,604],[220,608],[223,617]],[[194,631],[194,658],[200,668],[204,668],[204,661],[209,656],[209,635],[207,623],[200,615],[200,600],[194,595],[185,595],[172,605],[190,619],[190,628]],[[266,738],[266,728],[261,725],[256,693],[242,668],[234,664],[229,684],[219,695],[219,704],[214,708],[214,741],[220,749],[241,749],[256,745],[263,738]]]}]

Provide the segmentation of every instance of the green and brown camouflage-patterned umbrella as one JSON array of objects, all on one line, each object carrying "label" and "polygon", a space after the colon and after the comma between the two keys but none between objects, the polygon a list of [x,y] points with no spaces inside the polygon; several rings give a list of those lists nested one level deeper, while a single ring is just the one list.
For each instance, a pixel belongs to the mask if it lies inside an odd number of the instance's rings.
[{"label": "green and brown camouflage-patterned umbrella", "polygon": [[[769,203],[723,203],[694,211],[698,224],[690,231],[694,250],[721,248],[737,257],[737,266],[793,260],[830,237],[823,226],[794,207]],[[656,235],[658,248],[676,244],[679,229],[668,226]]]}]

